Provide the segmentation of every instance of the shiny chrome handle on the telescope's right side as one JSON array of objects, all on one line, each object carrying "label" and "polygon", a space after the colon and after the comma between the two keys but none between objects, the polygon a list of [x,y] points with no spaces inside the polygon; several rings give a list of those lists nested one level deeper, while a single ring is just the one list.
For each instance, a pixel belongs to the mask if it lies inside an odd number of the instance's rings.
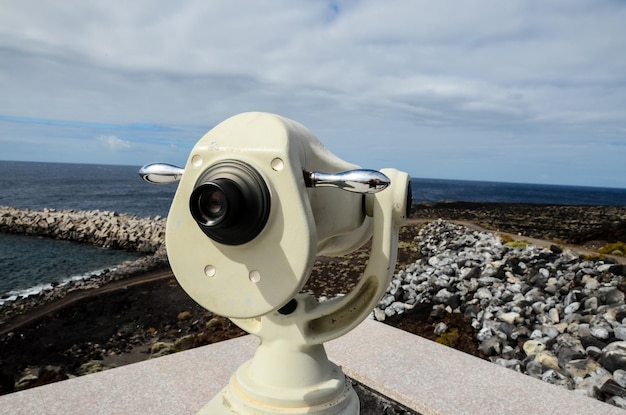
[{"label": "shiny chrome handle on the telescope's right side", "polygon": [[391,184],[389,177],[376,170],[357,169],[338,173],[303,171],[306,187],[335,187],[353,193],[377,193]]}]

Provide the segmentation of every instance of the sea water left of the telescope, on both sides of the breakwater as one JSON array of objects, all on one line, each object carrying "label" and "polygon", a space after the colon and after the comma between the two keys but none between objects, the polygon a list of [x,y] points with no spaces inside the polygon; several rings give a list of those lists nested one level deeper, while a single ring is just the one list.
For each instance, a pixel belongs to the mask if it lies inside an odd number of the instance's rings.
[{"label": "sea water left of the telescope, on both sides of the breakwater", "polygon": [[[151,186],[139,167],[0,161],[0,206],[167,216],[175,186]],[[0,233],[0,304],[88,278],[141,254]]]}]

